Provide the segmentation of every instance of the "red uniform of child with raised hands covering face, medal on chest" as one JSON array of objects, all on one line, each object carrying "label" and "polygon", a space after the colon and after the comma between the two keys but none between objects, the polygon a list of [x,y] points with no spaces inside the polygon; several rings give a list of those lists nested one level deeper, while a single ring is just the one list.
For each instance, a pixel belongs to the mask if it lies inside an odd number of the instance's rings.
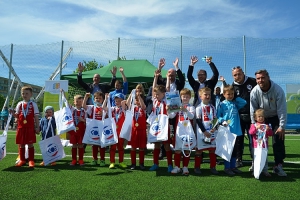
[{"label": "red uniform of child with raised hands covering face, medal on chest", "polygon": [[[132,148],[139,148],[139,163],[140,166],[144,165],[145,149],[147,147],[147,123],[146,123],[146,111],[141,107],[134,107],[134,116],[132,121],[131,140],[129,144]],[[136,165],[136,151],[130,151],[131,164]]]}]

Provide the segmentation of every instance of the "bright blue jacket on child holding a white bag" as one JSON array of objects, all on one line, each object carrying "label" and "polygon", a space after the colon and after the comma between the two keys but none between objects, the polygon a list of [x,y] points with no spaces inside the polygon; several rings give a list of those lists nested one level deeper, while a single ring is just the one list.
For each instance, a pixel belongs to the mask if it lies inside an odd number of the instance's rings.
[{"label": "bright blue jacket on child holding a white bag", "polygon": [[236,134],[237,136],[242,135],[241,123],[239,110],[247,104],[246,100],[241,97],[237,97],[235,100],[228,101],[224,100],[221,102],[217,117],[220,123],[227,121],[230,132]]}]

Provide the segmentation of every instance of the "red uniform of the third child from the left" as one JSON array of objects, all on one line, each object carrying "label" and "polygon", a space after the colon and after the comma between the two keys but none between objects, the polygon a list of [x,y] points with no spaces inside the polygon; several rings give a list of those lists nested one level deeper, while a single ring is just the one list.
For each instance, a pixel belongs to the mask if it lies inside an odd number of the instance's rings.
[{"label": "red uniform of the third child from the left", "polygon": [[[86,118],[86,112],[84,111],[83,108],[77,109],[76,107],[71,107],[71,112],[73,115],[73,119],[74,119],[74,123],[76,126],[76,130],[72,130],[70,132],[68,132],[70,134],[70,143],[71,144],[78,144],[81,145],[82,144],[82,139],[85,133],[85,122],[79,121],[79,117],[85,119]],[[84,154],[84,148],[78,147],[78,155],[79,158],[78,160],[80,162],[83,161],[83,154]],[[72,160],[77,160],[77,148],[72,148]],[[81,163],[83,164],[83,162]]]}]

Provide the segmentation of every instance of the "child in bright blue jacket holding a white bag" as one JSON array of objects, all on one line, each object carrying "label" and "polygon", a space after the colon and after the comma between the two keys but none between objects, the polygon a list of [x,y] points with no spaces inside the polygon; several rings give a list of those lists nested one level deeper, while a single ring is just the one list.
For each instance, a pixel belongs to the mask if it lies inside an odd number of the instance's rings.
[{"label": "child in bright blue jacket holding a white bag", "polygon": [[[237,97],[234,99],[234,89],[231,85],[225,86],[223,89],[223,96],[225,100],[222,101],[218,108],[218,120],[223,126],[229,126],[230,132],[241,136],[243,135],[240,117],[238,110],[243,108],[247,102],[246,100]],[[237,144],[234,144],[230,162],[224,160],[224,172],[229,176],[242,173],[236,168],[236,153],[237,153]]]}]

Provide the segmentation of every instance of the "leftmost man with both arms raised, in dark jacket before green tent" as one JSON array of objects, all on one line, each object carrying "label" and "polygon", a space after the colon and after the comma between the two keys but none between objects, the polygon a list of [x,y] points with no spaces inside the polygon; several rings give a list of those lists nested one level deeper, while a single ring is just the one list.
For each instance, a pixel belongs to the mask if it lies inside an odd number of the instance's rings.
[{"label": "leftmost man with both arms raised, in dark jacket before green tent", "polygon": [[[78,75],[77,75],[77,83],[86,91],[91,94],[94,94],[97,91],[101,91],[102,93],[109,93],[109,90],[114,87],[115,82],[116,82],[116,72],[117,72],[117,67],[114,66],[110,72],[112,73],[113,77],[111,79],[111,82],[109,85],[106,84],[101,84],[100,83],[100,74],[95,74],[93,77],[93,83],[85,83],[82,80],[82,72],[84,70],[84,66],[81,62],[78,63]],[[91,98],[88,99],[87,102],[88,105],[93,105],[93,101]]]}]

